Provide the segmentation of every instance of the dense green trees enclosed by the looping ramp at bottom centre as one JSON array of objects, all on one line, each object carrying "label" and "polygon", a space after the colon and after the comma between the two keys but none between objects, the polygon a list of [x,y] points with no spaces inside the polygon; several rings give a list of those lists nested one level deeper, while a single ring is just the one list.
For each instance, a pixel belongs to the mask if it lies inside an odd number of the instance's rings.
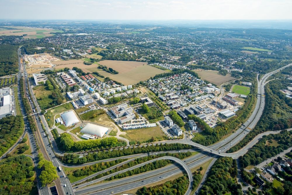
[{"label": "dense green trees enclosed by the looping ramp at bottom centre", "polygon": [[189,180],[186,175],[174,179],[172,181],[167,181],[164,184],[152,186],[152,187],[142,187],[138,189],[138,195],[183,195],[187,191],[189,185]]}]

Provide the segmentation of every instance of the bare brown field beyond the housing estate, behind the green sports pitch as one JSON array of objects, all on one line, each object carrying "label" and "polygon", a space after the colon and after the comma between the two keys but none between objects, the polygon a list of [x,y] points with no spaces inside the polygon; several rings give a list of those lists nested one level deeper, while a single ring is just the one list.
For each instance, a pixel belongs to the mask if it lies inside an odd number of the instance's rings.
[{"label": "bare brown field beyond the housing estate, behind the green sports pitch", "polygon": [[219,86],[221,83],[224,83],[226,81],[230,81],[232,79],[235,79],[230,74],[227,74],[226,76],[218,74],[218,71],[195,71],[199,77],[201,77],[202,80],[206,80],[210,83],[214,83],[215,85]]}]

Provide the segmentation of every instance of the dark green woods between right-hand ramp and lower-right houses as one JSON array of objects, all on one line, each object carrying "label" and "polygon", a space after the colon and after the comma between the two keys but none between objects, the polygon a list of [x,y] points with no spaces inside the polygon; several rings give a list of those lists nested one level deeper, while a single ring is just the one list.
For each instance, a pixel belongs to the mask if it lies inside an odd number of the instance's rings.
[{"label": "dark green woods between right-hand ramp and lower-right houses", "polygon": [[[239,158],[242,167],[248,165],[258,165],[267,158],[271,158],[284,150],[292,147],[291,131],[281,131],[279,134],[263,136],[256,145],[248,150],[246,154]],[[275,141],[279,146],[267,146],[267,141]]]}]

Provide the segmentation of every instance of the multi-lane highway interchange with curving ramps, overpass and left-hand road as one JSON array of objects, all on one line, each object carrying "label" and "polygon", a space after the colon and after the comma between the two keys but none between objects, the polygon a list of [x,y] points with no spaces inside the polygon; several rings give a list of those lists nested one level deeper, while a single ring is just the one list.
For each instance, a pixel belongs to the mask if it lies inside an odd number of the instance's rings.
[{"label": "multi-lane highway interchange with curving ramps, overpass and left-hand road", "polygon": [[[19,52],[19,54],[20,54],[20,52]],[[19,66],[18,79],[21,78],[21,75],[22,75],[21,73],[22,73],[22,68],[23,68],[23,76],[25,76],[24,86],[25,87],[28,86],[29,91],[32,94],[32,97],[31,97],[32,102],[30,102],[31,107],[32,107],[32,109],[36,109],[36,112],[40,112],[41,109],[40,109],[38,102],[36,101],[36,98],[33,94],[33,91],[31,88],[32,85],[31,85],[29,79],[27,79],[27,76],[25,74],[26,73],[25,66],[22,66],[20,61],[19,61],[19,64],[20,64],[20,66]],[[171,156],[161,157],[163,159],[173,160],[176,163],[171,164],[171,165],[166,166],[166,167],[163,167],[163,168],[158,169],[158,170],[149,171],[149,172],[142,173],[139,175],[134,175],[134,176],[126,177],[123,179],[118,179],[118,180],[108,182],[108,183],[101,183],[101,184],[97,184],[94,186],[84,187],[84,186],[87,186],[89,184],[100,181],[100,179],[98,179],[96,181],[87,182],[87,183],[81,184],[79,186],[74,186],[74,190],[72,188],[72,185],[69,182],[69,179],[66,177],[65,173],[62,170],[61,172],[58,172],[59,178],[55,181],[56,186],[58,186],[57,187],[58,194],[67,194],[67,193],[68,194],[117,194],[117,193],[121,193],[123,191],[127,191],[130,189],[142,187],[146,184],[158,182],[162,179],[166,179],[166,178],[170,177],[171,175],[176,175],[178,173],[181,173],[183,170],[185,170],[187,172],[188,177],[190,179],[190,186],[186,192],[186,194],[190,194],[191,187],[192,187],[192,177],[190,177],[192,175],[190,172],[191,168],[196,167],[198,165],[201,165],[202,163],[205,163],[208,160],[217,158],[218,156],[229,156],[232,158],[238,158],[239,156],[246,153],[247,149],[250,148],[251,146],[253,146],[261,136],[263,136],[264,134],[275,133],[275,132],[265,132],[263,135],[257,136],[253,141],[251,141],[246,147],[242,148],[241,150],[239,150],[235,153],[225,153],[225,151],[227,151],[229,148],[231,148],[236,143],[238,143],[240,140],[242,140],[246,136],[246,134],[251,129],[253,129],[254,126],[256,126],[258,120],[260,119],[262,112],[263,112],[263,109],[264,109],[264,105],[265,105],[264,86],[265,86],[265,83],[266,83],[268,77],[271,76],[272,74],[276,73],[277,71],[284,69],[284,68],[291,66],[291,65],[292,64],[288,64],[287,66],[281,67],[280,69],[277,69],[275,71],[267,73],[262,78],[260,78],[260,80],[258,80],[258,97],[257,97],[255,110],[253,111],[253,113],[251,114],[249,119],[236,132],[234,132],[232,135],[230,135],[226,139],[224,139],[218,143],[215,143],[211,146],[208,146],[208,147],[199,145],[199,144],[194,143],[191,140],[187,140],[187,139],[175,140],[175,141],[163,141],[163,143],[190,144],[190,145],[193,145],[193,146],[203,150],[201,153],[194,155],[190,158],[187,158],[184,161],[179,160],[178,158],[171,157]],[[20,94],[20,93],[18,93],[18,94]],[[24,112],[24,108],[23,108],[23,103],[21,101],[21,96],[19,96],[19,99],[20,99],[20,107],[22,108],[21,109],[22,114],[24,116],[26,116],[26,114]],[[36,107],[34,107],[34,105],[36,105]],[[41,136],[41,139],[42,139],[42,142],[44,143],[44,146],[42,146],[41,144],[39,144],[39,146],[44,147],[44,150],[47,153],[46,155],[53,162],[53,165],[55,167],[60,166],[62,163],[60,163],[59,160],[56,158],[55,153],[53,151],[53,148],[51,148],[51,145],[49,143],[49,139],[52,140],[52,142],[53,142],[53,137],[50,133],[50,129],[48,128],[48,125],[46,123],[44,115],[35,114],[35,115],[33,115],[33,117],[36,121],[36,125],[38,127],[38,130],[40,131],[40,134],[41,135],[46,134],[46,133],[48,134],[48,136],[46,136],[46,135]],[[41,122],[44,124],[46,132],[43,131]],[[26,118],[25,118],[25,124],[26,124],[25,130],[28,131],[30,145],[31,145],[31,148],[33,150],[32,157],[34,159],[34,164],[36,166],[38,163],[38,160],[37,160],[38,151],[36,150],[36,142],[35,142],[34,136],[32,135],[32,132],[29,129],[29,126],[27,126],[28,121]],[[154,144],[156,144],[156,142]],[[15,146],[16,145],[17,144],[15,144]],[[13,147],[15,147],[15,146],[13,146]],[[55,147],[55,144],[53,144],[53,146]],[[58,151],[58,149],[56,149],[55,151]],[[168,152],[168,151],[165,151],[165,152]],[[172,151],[172,152],[175,152],[175,151]],[[135,157],[139,157],[142,155],[147,155],[147,154],[139,154],[139,155],[135,155]],[[121,157],[121,158],[129,158],[129,156],[125,156],[125,157]],[[114,158],[114,159],[117,159],[117,158]],[[106,159],[104,161],[109,161],[109,160],[114,160],[114,159]],[[157,159],[155,159],[155,160],[157,160]],[[215,160],[212,161],[211,165],[213,165],[214,162],[215,162]],[[86,165],[87,164],[95,164],[95,163],[97,163],[97,162],[86,163]],[[142,166],[144,164],[145,163],[139,164],[139,165],[137,165],[137,167]],[[77,166],[84,166],[84,165],[77,165]],[[72,165],[70,167],[74,167],[74,165]],[[113,167],[111,167],[110,169],[112,169],[112,168]],[[134,168],[134,167],[131,167],[131,168]],[[123,170],[122,172],[124,172],[124,171],[126,171],[126,170]],[[40,174],[40,170],[36,169],[36,173],[37,173],[37,177],[38,177]],[[114,175],[118,174],[118,173],[119,172],[116,172],[116,173],[114,173]],[[63,175],[65,175],[65,177],[61,177]],[[206,178],[206,175],[204,175],[204,178]],[[204,181],[204,178],[203,178],[203,181]],[[66,184],[66,187],[60,186],[60,185],[64,185],[64,184]],[[81,187],[83,187],[83,188],[81,188]],[[48,187],[42,188],[40,186],[39,182],[38,182],[38,189],[39,189],[39,194],[41,194],[41,195],[50,194]],[[60,191],[60,189],[62,189],[62,191]]]}]

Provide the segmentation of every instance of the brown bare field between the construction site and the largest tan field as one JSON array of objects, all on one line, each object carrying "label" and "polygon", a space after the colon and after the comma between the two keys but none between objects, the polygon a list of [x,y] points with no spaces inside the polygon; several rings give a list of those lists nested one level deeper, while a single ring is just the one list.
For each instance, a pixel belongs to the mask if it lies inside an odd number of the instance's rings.
[{"label": "brown bare field between the construction site and the largest tan field", "polygon": [[98,64],[91,64],[91,65],[85,65],[83,64],[83,60],[61,60],[61,61],[54,61],[52,62],[52,64],[55,64],[56,67],[55,69],[56,70],[59,70],[59,69],[64,69],[64,68],[69,68],[69,69],[72,69],[73,67],[78,67],[79,69],[82,69],[82,71],[84,71],[85,73],[88,72],[87,69],[90,69],[90,68],[95,68],[95,67],[98,67]]}]

